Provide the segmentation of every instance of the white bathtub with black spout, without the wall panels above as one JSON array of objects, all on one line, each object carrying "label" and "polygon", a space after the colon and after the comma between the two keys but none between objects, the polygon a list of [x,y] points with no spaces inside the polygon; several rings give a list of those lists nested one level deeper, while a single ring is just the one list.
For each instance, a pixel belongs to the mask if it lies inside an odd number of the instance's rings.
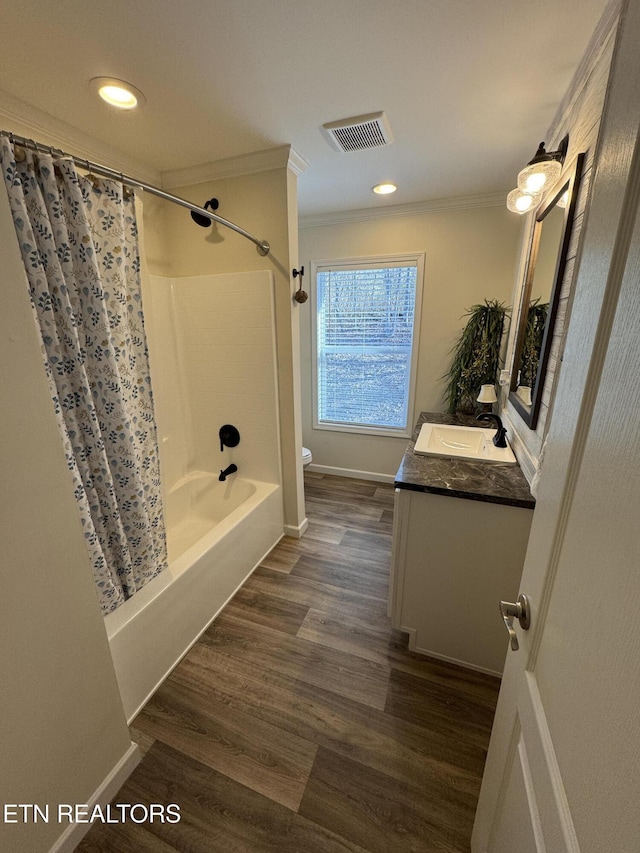
[{"label": "white bathtub with black spout, without the wall panels above", "polygon": [[282,537],[281,488],[198,471],[165,516],[168,568],[104,620],[128,722]]}]

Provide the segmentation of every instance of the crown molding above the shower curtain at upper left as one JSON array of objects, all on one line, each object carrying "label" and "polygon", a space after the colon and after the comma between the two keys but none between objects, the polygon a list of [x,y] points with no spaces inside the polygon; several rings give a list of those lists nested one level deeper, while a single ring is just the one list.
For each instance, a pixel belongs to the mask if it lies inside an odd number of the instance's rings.
[{"label": "crown molding above the shower curtain at upper left", "polygon": [[59,148],[75,157],[92,160],[148,184],[158,184],[160,181],[160,173],[150,166],[2,90],[0,128],[7,133],[26,136],[52,148]]}]

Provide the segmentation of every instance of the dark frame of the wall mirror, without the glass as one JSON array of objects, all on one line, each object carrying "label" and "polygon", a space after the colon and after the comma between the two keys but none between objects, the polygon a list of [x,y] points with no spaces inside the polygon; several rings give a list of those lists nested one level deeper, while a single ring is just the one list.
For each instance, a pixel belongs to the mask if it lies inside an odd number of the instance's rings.
[{"label": "dark frame of the wall mirror, without the glass", "polygon": [[[536,221],[531,235],[529,244],[529,252],[526,261],[526,273],[524,286],[520,295],[520,316],[518,318],[518,333],[516,336],[515,354],[513,366],[511,369],[511,384],[509,386],[509,402],[516,409],[522,420],[527,424],[529,429],[535,429],[538,423],[538,415],[540,413],[540,404],[542,403],[542,392],[544,390],[544,380],[547,372],[547,364],[549,354],[551,352],[551,342],[553,340],[553,331],[558,314],[558,304],[560,301],[560,291],[562,290],[562,280],[564,271],[567,265],[567,251],[571,241],[573,228],[573,220],[575,218],[576,203],[578,200],[578,188],[580,186],[580,178],[582,177],[582,169],[584,166],[584,154],[579,154],[576,158],[575,166],[570,174],[563,175],[559,182],[555,185],[550,194],[541,202],[536,213]],[[518,388],[518,374],[520,372],[520,363],[522,359],[522,348],[524,346],[525,329],[527,325],[527,310],[525,306],[529,305],[531,287],[535,273],[536,259],[538,255],[538,246],[540,244],[540,235],[542,232],[542,224],[545,217],[553,210],[558,202],[558,199],[564,192],[568,190],[568,203],[565,208],[564,224],[562,226],[562,235],[560,246],[558,248],[558,256],[556,259],[556,267],[553,275],[553,284],[551,287],[551,295],[549,297],[549,311],[547,313],[547,321],[545,323],[542,345],[540,347],[540,358],[538,361],[538,371],[536,373],[535,385],[531,391],[531,405],[528,406],[522,397],[516,392]]]}]

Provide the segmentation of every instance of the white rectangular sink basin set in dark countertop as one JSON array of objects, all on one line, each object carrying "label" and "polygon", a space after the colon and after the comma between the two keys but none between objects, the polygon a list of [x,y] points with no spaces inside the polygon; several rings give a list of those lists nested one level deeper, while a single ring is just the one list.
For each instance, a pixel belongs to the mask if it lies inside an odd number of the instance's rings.
[{"label": "white rectangular sink basin set in dark countertop", "polygon": [[422,456],[454,456],[515,465],[516,457],[508,443],[507,447],[494,445],[495,434],[491,428],[422,424],[414,452]]}]

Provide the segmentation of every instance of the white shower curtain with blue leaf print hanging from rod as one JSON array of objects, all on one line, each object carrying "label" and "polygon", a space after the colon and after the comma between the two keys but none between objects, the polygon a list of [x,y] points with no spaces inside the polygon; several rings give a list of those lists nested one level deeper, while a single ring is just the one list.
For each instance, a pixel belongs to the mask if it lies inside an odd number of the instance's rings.
[{"label": "white shower curtain with blue leaf print hanging from rod", "polygon": [[[0,164],[103,613],[167,564],[135,199],[0,137]],[[46,579],[43,577],[43,582]]]}]

